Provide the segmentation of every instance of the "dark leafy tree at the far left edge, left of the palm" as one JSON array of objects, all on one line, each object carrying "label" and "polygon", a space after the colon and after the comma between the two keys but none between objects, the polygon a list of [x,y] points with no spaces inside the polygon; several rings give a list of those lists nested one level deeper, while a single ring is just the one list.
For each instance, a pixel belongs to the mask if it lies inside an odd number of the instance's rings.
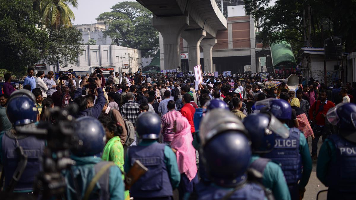
[{"label": "dark leafy tree at the far left edge, left of the palm", "polygon": [[48,35],[38,28],[40,18],[31,1],[0,1],[0,68],[22,76],[41,58]]}]

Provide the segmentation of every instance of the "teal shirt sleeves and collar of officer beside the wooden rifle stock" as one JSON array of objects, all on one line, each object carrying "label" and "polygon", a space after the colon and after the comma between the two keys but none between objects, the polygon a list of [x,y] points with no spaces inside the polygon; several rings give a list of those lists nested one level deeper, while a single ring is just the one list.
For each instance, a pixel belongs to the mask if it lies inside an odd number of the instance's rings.
[{"label": "teal shirt sleeves and collar of officer beside the wooden rifle stock", "polygon": [[[155,140],[142,140],[138,146],[149,146],[157,141]],[[180,182],[180,173],[178,170],[177,157],[176,154],[172,151],[170,147],[167,145],[164,147],[164,163],[167,166],[167,172],[169,175],[169,179],[171,180],[172,188],[175,189],[178,187]],[[125,172],[128,173],[131,168],[131,158],[129,158],[129,154],[126,154],[124,169]]]}]

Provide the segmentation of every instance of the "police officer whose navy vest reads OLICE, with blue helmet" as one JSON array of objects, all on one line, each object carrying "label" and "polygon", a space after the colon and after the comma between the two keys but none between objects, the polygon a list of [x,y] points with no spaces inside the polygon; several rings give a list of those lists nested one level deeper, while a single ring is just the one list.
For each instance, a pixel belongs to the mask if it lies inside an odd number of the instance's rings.
[{"label": "police officer whose navy vest reads OLICE, with blue helmet", "polygon": [[[269,111],[288,127],[286,122],[292,116],[292,108],[283,99],[269,101]],[[286,177],[292,200],[303,198],[305,186],[312,172],[312,159],[307,140],[298,128],[289,128],[289,137],[276,136],[276,144],[272,152],[263,157],[279,162]],[[303,168],[303,173],[302,173]],[[299,181],[299,183],[298,183]]]}]

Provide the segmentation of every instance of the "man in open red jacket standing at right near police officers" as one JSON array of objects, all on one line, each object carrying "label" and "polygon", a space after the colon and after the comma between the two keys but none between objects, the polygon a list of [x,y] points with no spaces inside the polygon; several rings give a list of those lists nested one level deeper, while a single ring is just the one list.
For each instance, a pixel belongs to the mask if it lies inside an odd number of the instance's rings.
[{"label": "man in open red jacket standing at right near police officers", "polygon": [[312,160],[318,159],[318,141],[320,136],[323,136],[323,142],[330,134],[330,130],[325,126],[325,116],[328,110],[335,106],[335,104],[327,99],[328,95],[325,90],[319,93],[320,100],[315,101],[309,109],[309,118],[314,123],[314,136],[312,140]]}]

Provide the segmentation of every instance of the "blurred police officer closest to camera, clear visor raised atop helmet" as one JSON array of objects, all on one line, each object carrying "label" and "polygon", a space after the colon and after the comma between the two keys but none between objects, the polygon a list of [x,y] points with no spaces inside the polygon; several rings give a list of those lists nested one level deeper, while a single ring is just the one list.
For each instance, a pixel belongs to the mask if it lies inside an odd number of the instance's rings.
[{"label": "blurred police officer closest to camera, clear visor raised atop helmet", "polygon": [[214,109],[200,125],[200,152],[212,183],[199,183],[198,200],[265,199],[263,186],[247,181],[251,158],[250,141],[244,125],[234,114]]}]

